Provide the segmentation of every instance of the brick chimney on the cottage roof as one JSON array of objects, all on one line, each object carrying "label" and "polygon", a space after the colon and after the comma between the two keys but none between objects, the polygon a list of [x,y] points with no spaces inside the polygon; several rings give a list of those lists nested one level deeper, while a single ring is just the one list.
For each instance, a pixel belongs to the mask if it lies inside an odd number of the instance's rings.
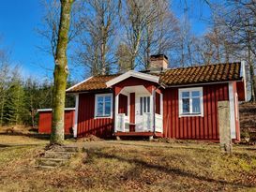
[{"label": "brick chimney on the cottage roof", "polygon": [[151,71],[161,71],[168,68],[168,57],[164,54],[155,54],[150,56]]}]

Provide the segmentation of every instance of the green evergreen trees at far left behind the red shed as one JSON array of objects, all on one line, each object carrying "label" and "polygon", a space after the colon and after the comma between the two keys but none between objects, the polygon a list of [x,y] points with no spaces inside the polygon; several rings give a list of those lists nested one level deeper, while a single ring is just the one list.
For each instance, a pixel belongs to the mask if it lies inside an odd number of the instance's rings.
[{"label": "green evergreen trees at far left behind the red shed", "polygon": [[[0,65],[0,126],[35,127],[38,109],[52,108],[53,81],[23,79],[20,71],[18,66]],[[74,105],[74,96],[67,96],[66,107]]]}]

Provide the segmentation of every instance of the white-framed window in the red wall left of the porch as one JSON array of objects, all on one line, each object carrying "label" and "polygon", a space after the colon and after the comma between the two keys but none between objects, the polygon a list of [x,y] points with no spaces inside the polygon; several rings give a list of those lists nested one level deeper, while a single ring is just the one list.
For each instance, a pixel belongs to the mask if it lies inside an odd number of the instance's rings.
[{"label": "white-framed window in the red wall left of the porch", "polygon": [[95,97],[95,116],[112,116],[112,94],[101,94]]}]

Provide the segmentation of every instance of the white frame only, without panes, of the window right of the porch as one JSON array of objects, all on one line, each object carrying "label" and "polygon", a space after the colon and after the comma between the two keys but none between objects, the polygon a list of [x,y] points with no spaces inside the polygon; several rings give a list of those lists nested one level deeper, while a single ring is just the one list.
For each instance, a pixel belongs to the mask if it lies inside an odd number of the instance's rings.
[{"label": "white frame only, without panes, of the window right of the porch", "polygon": [[[199,91],[200,94],[200,113],[192,112],[192,97],[191,92]],[[183,113],[182,111],[182,93],[189,92],[189,113]],[[179,89],[179,117],[191,117],[191,116],[201,116],[203,117],[203,87],[191,87]]]}]

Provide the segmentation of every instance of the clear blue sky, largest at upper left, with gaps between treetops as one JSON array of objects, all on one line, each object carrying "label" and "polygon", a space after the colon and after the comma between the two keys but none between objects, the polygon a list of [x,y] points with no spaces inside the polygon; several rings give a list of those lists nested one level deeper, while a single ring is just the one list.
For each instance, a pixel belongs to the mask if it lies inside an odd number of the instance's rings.
[{"label": "clear blue sky, largest at upper left, with gaps between treetops", "polygon": [[[181,0],[173,0],[173,11],[179,18],[184,13],[184,4]],[[188,0],[188,18],[192,31],[196,35],[202,35],[206,30],[203,19],[210,14],[209,7],[198,1]],[[0,6],[0,47],[6,47],[11,51],[10,59],[13,64],[22,68],[22,75],[34,76],[41,79],[45,76],[52,77],[53,58],[44,52],[40,52],[37,46],[41,43],[41,37],[36,33],[43,15],[43,7],[40,0],[8,0],[2,1]],[[72,72],[72,71],[71,71]],[[83,74],[74,71],[72,79],[81,80]]]}]

